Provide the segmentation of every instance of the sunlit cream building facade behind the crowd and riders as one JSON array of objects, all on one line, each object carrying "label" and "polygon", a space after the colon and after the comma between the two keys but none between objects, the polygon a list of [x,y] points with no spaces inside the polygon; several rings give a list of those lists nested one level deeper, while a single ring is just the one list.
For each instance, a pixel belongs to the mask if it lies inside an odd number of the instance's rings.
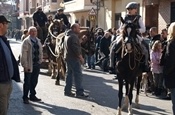
[{"label": "sunlit cream building facade behind the crowd and riders", "polygon": [[[104,29],[120,26],[120,17],[126,15],[125,6],[129,2],[139,3],[138,13],[142,16],[147,29],[158,27],[159,32],[167,24],[175,21],[175,0],[19,0],[19,18],[22,28],[32,25],[32,14],[42,5],[47,15],[54,15],[58,8],[65,8],[70,23],[81,26],[98,26]],[[90,18],[91,9],[95,10],[95,24]]]}]

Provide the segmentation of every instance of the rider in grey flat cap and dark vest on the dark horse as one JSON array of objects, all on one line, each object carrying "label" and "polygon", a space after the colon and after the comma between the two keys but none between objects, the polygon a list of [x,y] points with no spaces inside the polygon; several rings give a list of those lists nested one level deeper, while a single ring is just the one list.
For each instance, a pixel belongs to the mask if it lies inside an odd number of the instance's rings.
[{"label": "rider in grey flat cap and dark vest on the dark horse", "polygon": [[[145,29],[145,25],[142,21],[142,18],[140,15],[137,14],[137,9],[138,9],[138,3],[136,2],[130,2],[126,5],[126,9],[127,9],[127,14],[124,18],[125,22],[133,22],[134,20],[137,20],[136,22],[136,29],[137,29],[137,42],[140,44],[140,47],[142,48],[142,52],[145,55],[145,66],[143,67],[143,71],[148,71],[148,51],[145,48],[144,44],[142,45],[142,38],[141,38],[141,33],[144,33],[146,31]],[[123,28],[123,25],[121,25],[121,27],[119,28],[119,30],[121,31]],[[115,42],[115,41],[114,41]],[[110,57],[111,57],[111,53],[110,53]],[[110,67],[113,67],[113,62],[110,60]]]}]

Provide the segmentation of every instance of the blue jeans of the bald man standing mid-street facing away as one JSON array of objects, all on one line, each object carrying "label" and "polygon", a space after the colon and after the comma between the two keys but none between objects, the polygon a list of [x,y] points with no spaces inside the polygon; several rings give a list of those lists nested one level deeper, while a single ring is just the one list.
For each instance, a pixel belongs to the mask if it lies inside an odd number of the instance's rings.
[{"label": "blue jeans of the bald man standing mid-street facing away", "polygon": [[67,75],[66,75],[66,86],[65,94],[70,94],[72,89],[73,78],[76,87],[76,95],[82,95],[84,89],[82,87],[82,68],[81,63],[77,59],[66,60],[67,63]]}]

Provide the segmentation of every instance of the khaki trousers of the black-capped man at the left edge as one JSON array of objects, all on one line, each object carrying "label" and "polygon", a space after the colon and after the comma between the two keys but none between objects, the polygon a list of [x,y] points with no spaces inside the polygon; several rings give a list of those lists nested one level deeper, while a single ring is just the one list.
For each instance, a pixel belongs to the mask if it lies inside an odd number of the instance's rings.
[{"label": "khaki trousers of the black-capped man at the left edge", "polygon": [[12,82],[0,83],[0,115],[7,115],[11,92]]}]

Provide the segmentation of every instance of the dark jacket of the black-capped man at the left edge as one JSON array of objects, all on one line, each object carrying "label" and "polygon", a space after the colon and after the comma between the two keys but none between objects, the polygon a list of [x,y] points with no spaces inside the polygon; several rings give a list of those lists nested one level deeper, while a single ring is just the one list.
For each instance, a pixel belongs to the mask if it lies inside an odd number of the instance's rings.
[{"label": "dark jacket of the black-capped man at the left edge", "polygon": [[[8,48],[11,51],[12,63],[13,63],[13,68],[14,68],[14,75],[12,79],[15,80],[16,82],[20,82],[18,64],[12,53],[9,42],[7,41],[7,38],[4,36],[0,36],[0,39],[2,39],[5,42],[5,44],[8,46]],[[7,66],[5,54],[4,54],[1,44],[0,44],[0,60],[2,62],[0,63],[0,83],[6,83],[6,82],[11,81],[11,78],[9,77],[8,66]]]}]

